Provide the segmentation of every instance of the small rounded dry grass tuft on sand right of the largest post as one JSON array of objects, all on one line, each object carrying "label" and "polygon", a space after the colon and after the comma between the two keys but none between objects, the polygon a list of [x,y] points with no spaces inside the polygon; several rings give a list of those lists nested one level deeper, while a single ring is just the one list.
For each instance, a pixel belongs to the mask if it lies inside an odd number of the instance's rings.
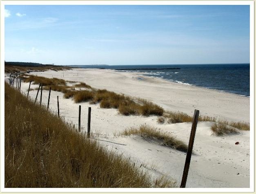
[{"label": "small rounded dry grass tuft on sand right of the largest post", "polygon": [[238,129],[236,129],[232,126],[229,126],[227,124],[223,124],[223,123],[214,123],[211,126],[211,131],[216,136],[223,136],[223,135],[240,133]]}]

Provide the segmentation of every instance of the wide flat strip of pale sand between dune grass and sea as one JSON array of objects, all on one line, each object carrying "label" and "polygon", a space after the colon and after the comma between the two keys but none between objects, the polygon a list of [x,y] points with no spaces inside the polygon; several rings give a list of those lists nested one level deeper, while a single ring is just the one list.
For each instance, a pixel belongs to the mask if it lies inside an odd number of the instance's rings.
[{"label": "wide flat strip of pale sand between dune grass and sea", "polygon": [[[139,73],[115,72],[114,70],[73,69],[64,72],[31,73],[48,78],[63,78],[64,73],[65,80],[83,81],[91,87],[152,100],[166,110],[182,111],[193,115],[194,109],[198,109],[200,115],[222,120],[249,122],[248,97],[219,92],[214,89],[141,76]],[[144,80],[138,80],[138,77]]]}]

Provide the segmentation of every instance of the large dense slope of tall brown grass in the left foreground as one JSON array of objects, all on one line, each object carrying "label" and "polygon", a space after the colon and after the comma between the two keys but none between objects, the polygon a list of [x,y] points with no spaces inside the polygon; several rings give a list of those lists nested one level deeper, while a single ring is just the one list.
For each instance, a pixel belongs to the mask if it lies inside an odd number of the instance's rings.
[{"label": "large dense slope of tall brown grass in the left foreground", "polygon": [[173,187],[108,152],[5,83],[5,187]]}]

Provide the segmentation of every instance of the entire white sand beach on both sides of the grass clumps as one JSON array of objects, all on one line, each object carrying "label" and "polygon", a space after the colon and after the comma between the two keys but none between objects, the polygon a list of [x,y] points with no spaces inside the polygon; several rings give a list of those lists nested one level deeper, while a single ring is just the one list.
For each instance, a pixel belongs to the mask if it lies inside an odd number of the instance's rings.
[{"label": "entire white sand beach on both sides of the grass clumps", "polygon": [[[32,74],[63,78],[63,72],[47,71]],[[249,122],[247,97],[146,76],[143,76],[144,81],[139,81],[136,79],[138,76],[135,73],[112,70],[79,69],[78,76],[77,70],[64,72],[65,80],[82,81],[92,87],[150,99],[165,109],[184,111],[193,115],[196,108],[202,115]],[[28,87],[29,83],[22,83],[21,90],[27,93]],[[31,88],[37,87],[38,85],[31,85]],[[30,91],[29,96],[35,99],[36,92]],[[43,104],[47,105],[48,94],[48,91],[43,90]],[[53,112],[57,110],[57,95],[65,122],[68,120],[77,127],[78,106],[81,105],[81,125],[87,129],[87,109],[91,107],[91,130],[92,133],[97,133],[93,135],[98,142],[109,150],[116,150],[126,157],[131,157],[136,165],[140,166],[142,163],[143,168],[148,169],[153,176],[165,175],[176,180],[177,185],[180,184],[185,153],[161,146],[158,142],[143,140],[141,137],[116,137],[114,133],[146,123],[168,131],[188,143],[191,123],[158,124],[156,116],[122,116],[116,109],[101,109],[99,105],[89,105],[88,102],[76,104],[71,99],[63,98],[62,93],[51,91],[50,109]],[[249,187],[249,131],[216,137],[211,135],[210,127],[211,122],[198,122],[186,187]],[[235,142],[240,144],[236,145]]]}]

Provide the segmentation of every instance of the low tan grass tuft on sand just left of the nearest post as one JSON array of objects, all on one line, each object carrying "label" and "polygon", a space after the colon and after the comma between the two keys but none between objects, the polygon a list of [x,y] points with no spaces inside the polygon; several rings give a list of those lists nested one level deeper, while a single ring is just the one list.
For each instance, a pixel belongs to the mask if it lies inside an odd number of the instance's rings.
[{"label": "low tan grass tuft on sand just left of the nearest post", "polygon": [[131,127],[125,129],[125,131],[119,135],[140,135],[146,139],[158,140],[163,146],[168,146],[183,152],[187,151],[187,145],[184,142],[177,140],[167,132],[162,132],[160,129],[146,124],[141,125],[139,128]]}]

